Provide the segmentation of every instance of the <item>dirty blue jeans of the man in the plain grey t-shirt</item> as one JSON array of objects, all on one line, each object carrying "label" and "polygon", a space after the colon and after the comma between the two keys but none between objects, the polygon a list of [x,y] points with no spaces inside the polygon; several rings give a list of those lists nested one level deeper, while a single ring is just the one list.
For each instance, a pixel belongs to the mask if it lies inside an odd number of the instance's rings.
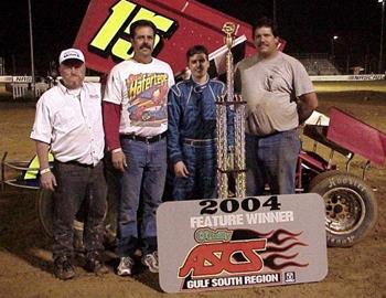
[{"label": "dirty blue jeans of the man in the plain grey t-shirt", "polygon": [[294,193],[300,139],[297,129],[267,137],[246,135],[247,195]]}]

